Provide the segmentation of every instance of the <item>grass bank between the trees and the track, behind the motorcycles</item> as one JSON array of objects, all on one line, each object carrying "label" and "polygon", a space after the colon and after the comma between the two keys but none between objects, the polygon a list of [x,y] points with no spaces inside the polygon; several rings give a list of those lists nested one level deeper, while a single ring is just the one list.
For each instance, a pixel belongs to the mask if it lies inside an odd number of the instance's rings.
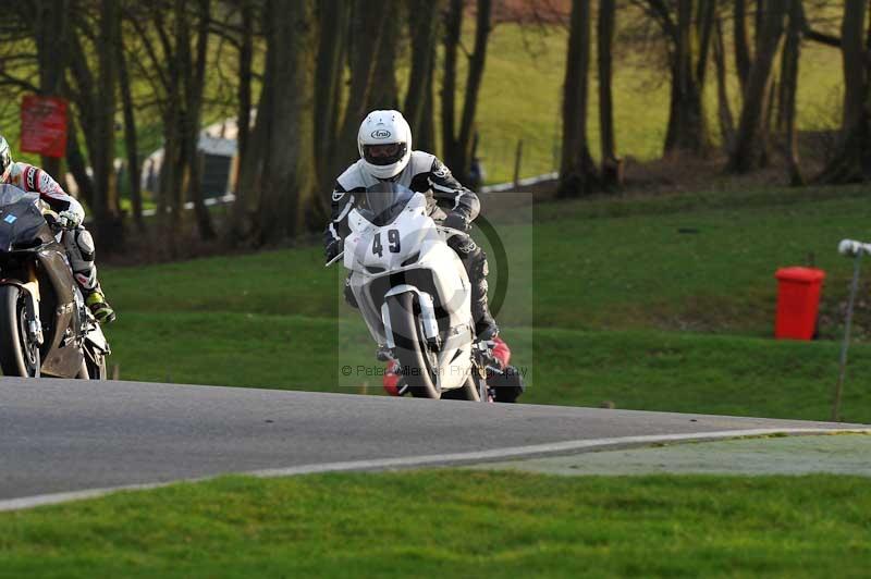
[{"label": "grass bank between the trees and the track, behind the motorcycles", "polygon": [[[525,401],[827,418],[851,271],[835,247],[867,231],[866,204],[849,187],[598,199],[499,226],[523,266],[499,318],[529,372]],[[825,340],[775,342],[773,273],[809,254],[829,272]],[[102,276],[123,379],[380,392],[378,377],[340,375],[375,364],[375,344],[319,247]],[[844,417],[869,422],[867,306],[856,324]]]}]

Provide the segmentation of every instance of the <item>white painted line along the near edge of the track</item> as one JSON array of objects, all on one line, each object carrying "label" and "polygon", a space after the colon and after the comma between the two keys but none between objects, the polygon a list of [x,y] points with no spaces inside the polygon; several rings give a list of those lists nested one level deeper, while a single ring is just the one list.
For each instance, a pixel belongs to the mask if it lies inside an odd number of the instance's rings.
[{"label": "white painted line along the near edge of the track", "polygon": [[425,456],[408,456],[402,458],[373,458],[369,460],[345,460],[342,463],[320,463],[300,465],[287,468],[270,468],[250,470],[246,472],[225,472],[209,477],[181,479],[172,482],[157,482],[146,484],[126,484],[106,489],[87,489],[65,493],[40,494],[8,498],[0,501],[0,512],[20,510],[44,505],[54,505],[70,501],[96,498],[119,491],[143,491],[159,489],[176,482],[198,482],[213,479],[224,475],[247,475],[252,477],[273,478],[290,477],[294,475],[311,475],[317,472],[346,472],[354,470],[388,470],[400,468],[415,468],[426,466],[444,466],[458,464],[488,463],[506,458],[527,458],[550,454],[571,454],[573,452],[602,449],[610,447],[643,446],[666,442],[703,442],[723,439],[737,439],[743,436],[765,436],[770,434],[831,434],[831,433],[866,433],[871,434],[871,429],[821,429],[821,428],[758,428],[747,430],[723,430],[714,432],[690,432],[686,434],[648,434],[640,436],[615,436],[610,439],[589,439],[528,446],[512,446],[508,448],[494,448],[492,451],[475,451],[468,453],[437,454]]}]

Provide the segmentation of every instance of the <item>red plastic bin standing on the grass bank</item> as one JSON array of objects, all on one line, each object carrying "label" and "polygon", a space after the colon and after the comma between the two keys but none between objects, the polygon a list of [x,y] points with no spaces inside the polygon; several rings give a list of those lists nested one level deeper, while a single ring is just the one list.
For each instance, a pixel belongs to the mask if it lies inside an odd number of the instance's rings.
[{"label": "red plastic bin standing on the grass bank", "polygon": [[777,340],[811,340],[820,310],[820,290],[825,272],[814,268],[783,268],[777,279]]}]

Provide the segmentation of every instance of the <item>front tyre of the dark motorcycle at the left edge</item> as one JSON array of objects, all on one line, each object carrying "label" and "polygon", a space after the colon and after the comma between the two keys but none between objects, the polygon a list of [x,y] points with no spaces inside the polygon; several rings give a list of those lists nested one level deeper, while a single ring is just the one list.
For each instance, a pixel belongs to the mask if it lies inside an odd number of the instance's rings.
[{"label": "front tyre of the dark motorcycle at the left edge", "polygon": [[27,336],[27,295],[0,285],[0,368],[3,375],[39,378],[39,346]]}]

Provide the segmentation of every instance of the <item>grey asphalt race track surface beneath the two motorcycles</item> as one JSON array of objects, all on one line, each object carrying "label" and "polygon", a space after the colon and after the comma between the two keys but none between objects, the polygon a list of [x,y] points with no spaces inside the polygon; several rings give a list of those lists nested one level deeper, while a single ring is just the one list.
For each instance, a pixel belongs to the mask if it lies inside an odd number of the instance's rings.
[{"label": "grey asphalt race track surface beneath the two motorcycles", "polygon": [[[0,378],[0,502],[228,472],[468,464],[660,440],[812,429],[795,420]],[[11,508],[11,507],[8,507]]]}]

